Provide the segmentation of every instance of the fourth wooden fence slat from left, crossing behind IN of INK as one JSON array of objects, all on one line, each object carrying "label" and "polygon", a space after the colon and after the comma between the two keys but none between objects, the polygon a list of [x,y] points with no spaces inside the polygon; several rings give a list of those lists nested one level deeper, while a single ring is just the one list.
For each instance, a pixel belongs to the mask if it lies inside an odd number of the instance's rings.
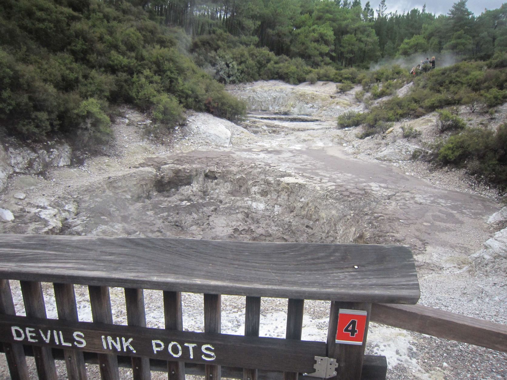
[{"label": "fourth wooden fence slat from left, crossing behind IN of INK", "polygon": [[[90,285],[88,292],[90,293],[93,322],[113,324],[109,288]],[[98,362],[102,380],[120,380],[116,355],[98,354]]]}]

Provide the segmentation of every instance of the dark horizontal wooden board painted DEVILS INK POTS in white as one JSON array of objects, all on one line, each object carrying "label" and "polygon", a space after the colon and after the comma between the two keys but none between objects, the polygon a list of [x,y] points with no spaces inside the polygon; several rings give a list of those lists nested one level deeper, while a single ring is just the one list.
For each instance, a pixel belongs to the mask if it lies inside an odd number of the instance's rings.
[{"label": "dark horizontal wooden board painted DEVILS INK POTS in white", "polygon": [[[17,328],[13,330],[13,326]],[[37,333],[37,342],[28,341],[26,328],[34,329]],[[296,339],[200,333],[20,316],[5,316],[0,320],[0,339],[7,343],[22,343],[44,348],[62,347],[55,342],[53,334],[46,342],[39,330],[44,334],[48,330],[56,331],[58,336],[61,332],[63,340],[71,344],[72,349],[96,352],[99,355],[115,353],[130,357],[146,356],[161,360],[279,371],[313,372],[314,356],[325,356],[326,351],[323,342]]]}]

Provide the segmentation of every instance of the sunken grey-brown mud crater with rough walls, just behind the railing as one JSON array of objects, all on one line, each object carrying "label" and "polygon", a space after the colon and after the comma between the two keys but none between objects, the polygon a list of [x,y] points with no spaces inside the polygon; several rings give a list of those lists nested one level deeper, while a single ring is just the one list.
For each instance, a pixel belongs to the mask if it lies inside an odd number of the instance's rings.
[{"label": "sunken grey-brown mud crater with rough walls, just behind the railing", "polygon": [[[366,202],[256,163],[173,162],[88,188],[62,234],[365,242]],[[117,188],[123,189],[118,197]],[[363,210],[359,219],[358,211]]]}]

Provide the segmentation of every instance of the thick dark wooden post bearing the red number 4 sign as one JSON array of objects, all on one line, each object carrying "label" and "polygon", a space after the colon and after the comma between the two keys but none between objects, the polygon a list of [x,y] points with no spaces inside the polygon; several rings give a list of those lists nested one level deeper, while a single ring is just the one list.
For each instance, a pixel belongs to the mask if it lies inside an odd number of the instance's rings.
[{"label": "thick dark wooden post bearing the red number 4 sign", "polygon": [[[368,324],[370,320],[372,304],[361,302],[331,302],[331,310],[328,327],[328,357],[335,358],[338,363],[336,369],[338,379],[360,380],[365,356],[366,338],[368,335]],[[362,345],[337,344],[336,330],[338,325],[338,312],[340,309],[364,310],[366,311],[365,336]]]}]

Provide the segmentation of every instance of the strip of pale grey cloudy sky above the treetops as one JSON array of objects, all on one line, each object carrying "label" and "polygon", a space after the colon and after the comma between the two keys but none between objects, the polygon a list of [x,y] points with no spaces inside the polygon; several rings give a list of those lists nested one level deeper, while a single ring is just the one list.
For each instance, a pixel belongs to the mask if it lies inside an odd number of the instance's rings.
[{"label": "strip of pale grey cloudy sky above the treetops", "polygon": [[[410,11],[413,8],[422,9],[422,6],[426,3],[426,12],[439,15],[447,14],[452,5],[457,1],[458,0],[385,0],[385,4],[387,5],[387,12],[398,11],[398,13],[402,13],[403,11]],[[366,2],[367,0],[361,0],[363,7]],[[379,3],[380,0],[370,0],[372,8],[375,10],[378,8]],[[502,3],[505,3],[505,0],[468,0],[466,4],[470,11],[474,12],[476,16],[479,16],[484,12],[484,8],[500,8]]]}]

